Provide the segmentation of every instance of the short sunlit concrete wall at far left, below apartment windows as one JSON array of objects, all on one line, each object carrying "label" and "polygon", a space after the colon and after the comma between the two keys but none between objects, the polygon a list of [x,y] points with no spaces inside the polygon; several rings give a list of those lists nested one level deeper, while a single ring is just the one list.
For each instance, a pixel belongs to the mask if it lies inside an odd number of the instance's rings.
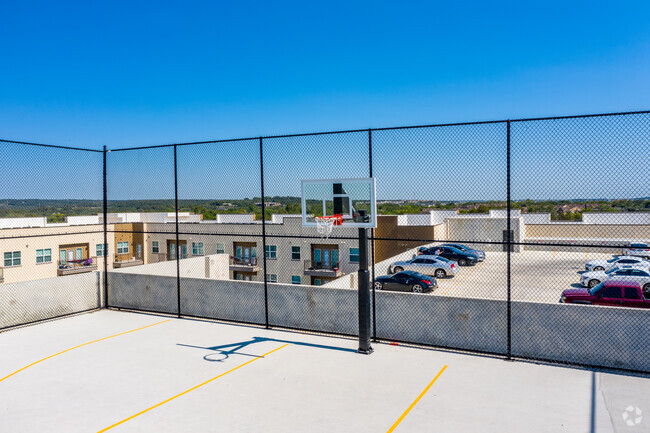
[{"label": "short sunlit concrete wall at far left, below apartment windows", "polygon": [[0,328],[99,308],[100,288],[99,272],[0,284]]}]

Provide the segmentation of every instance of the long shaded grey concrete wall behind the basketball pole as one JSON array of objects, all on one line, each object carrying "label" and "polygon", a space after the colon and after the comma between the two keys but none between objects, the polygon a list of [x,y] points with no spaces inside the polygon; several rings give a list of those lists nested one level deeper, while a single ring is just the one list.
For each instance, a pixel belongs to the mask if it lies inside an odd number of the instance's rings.
[{"label": "long shaded grey concrete wall behind the basketball pole", "polygon": [[[111,306],[176,312],[176,278],[110,272]],[[264,283],[181,279],[181,312],[264,323]],[[507,303],[378,291],[377,336],[433,346],[505,354]],[[268,284],[269,324],[357,334],[357,291]],[[514,356],[650,371],[650,311],[512,303]]]}]

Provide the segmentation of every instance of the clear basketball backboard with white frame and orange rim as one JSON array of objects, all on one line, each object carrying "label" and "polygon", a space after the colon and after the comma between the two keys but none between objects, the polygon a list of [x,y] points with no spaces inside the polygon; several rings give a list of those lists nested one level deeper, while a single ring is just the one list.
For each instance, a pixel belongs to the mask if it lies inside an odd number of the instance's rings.
[{"label": "clear basketball backboard with white frame and orange rim", "polygon": [[317,217],[335,218],[342,227],[377,227],[375,179],[303,180],[302,225],[316,227]]}]

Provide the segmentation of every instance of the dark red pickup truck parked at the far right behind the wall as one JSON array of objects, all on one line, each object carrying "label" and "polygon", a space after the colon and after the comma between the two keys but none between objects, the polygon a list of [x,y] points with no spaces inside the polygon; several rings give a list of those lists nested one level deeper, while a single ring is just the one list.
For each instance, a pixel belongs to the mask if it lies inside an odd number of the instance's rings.
[{"label": "dark red pickup truck parked at the far right behind the wall", "polygon": [[594,304],[615,307],[650,308],[650,292],[643,292],[636,281],[603,281],[591,289],[562,292],[561,303]]}]

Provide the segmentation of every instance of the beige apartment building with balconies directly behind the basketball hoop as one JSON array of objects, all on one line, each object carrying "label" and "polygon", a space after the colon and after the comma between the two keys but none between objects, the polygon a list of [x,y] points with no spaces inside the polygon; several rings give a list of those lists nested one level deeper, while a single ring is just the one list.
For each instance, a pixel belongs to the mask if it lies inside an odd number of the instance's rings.
[{"label": "beige apartment building with balconies directly behind the basketball hoop", "polygon": [[177,255],[184,259],[225,253],[230,256],[231,279],[266,278],[269,282],[312,285],[322,285],[358,270],[358,232],[354,229],[335,229],[337,236],[354,239],[320,239],[315,227],[302,226],[300,215],[276,217],[265,227],[264,246],[262,225],[252,219],[243,221],[181,223],[178,242],[174,225],[146,223],[146,262],[175,260]]}]

